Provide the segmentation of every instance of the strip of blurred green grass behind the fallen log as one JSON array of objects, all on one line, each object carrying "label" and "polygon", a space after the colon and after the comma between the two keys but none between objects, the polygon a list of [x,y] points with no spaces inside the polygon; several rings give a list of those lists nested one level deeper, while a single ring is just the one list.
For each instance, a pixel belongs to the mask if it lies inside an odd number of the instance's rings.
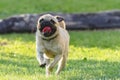
[{"label": "strip of blurred green grass behind the fallen log", "polygon": [[24,13],[81,13],[120,9],[120,0],[0,0],[0,18]]}]

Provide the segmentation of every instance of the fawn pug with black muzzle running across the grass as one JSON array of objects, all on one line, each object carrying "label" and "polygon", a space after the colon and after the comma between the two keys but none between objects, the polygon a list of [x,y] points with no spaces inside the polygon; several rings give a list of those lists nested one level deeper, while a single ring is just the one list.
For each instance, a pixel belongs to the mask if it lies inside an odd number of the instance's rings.
[{"label": "fawn pug with black muzzle running across the grass", "polygon": [[37,60],[40,67],[46,66],[47,76],[51,74],[57,63],[57,75],[65,67],[69,39],[62,17],[45,14],[38,19],[36,31]]}]

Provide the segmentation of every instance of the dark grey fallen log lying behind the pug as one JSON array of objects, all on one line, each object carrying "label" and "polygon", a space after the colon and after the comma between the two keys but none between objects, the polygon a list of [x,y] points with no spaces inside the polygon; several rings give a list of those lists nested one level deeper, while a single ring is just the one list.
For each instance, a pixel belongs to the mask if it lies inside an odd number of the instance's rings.
[{"label": "dark grey fallen log lying behind the pug", "polygon": [[[120,11],[63,14],[68,30],[96,30],[120,28]],[[38,18],[43,14],[22,14],[0,20],[0,33],[35,32]]]}]

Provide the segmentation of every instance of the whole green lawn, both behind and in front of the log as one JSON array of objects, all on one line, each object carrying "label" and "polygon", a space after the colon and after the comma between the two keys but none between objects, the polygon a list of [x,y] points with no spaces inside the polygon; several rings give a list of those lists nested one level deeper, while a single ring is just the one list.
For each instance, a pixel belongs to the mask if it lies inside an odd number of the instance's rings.
[{"label": "whole green lawn, both behind and in front of the log", "polygon": [[[81,13],[120,9],[120,0],[0,0],[0,18],[26,13]],[[66,68],[45,77],[35,34],[0,35],[0,80],[119,80],[120,30],[72,31]],[[55,69],[54,69],[55,72]]]}]

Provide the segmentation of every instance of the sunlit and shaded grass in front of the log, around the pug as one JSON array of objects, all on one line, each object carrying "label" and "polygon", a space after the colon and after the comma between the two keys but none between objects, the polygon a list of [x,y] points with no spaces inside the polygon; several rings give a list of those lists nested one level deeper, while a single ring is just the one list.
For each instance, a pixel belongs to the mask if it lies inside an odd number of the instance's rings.
[{"label": "sunlit and shaded grass in front of the log, around the pug", "polygon": [[[120,79],[120,30],[69,33],[67,66],[48,80]],[[35,56],[35,34],[0,35],[0,80],[47,80]]]}]

